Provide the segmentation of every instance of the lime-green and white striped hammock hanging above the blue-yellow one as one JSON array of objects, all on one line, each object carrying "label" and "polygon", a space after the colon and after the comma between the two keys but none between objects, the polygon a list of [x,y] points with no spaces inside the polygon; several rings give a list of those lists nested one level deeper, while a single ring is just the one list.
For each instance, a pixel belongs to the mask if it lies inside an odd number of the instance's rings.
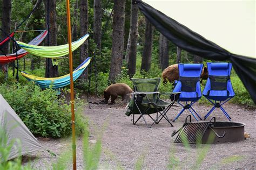
[{"label": "lime-green and white striped hammock hanging above the blue-yellow one", "polygon": [[[84,41],[89,37],[89,34],[86,34],[77,41],[72,42],[72,51],[77,49]],[[24,42],[17,41],[17,44],[28,51],[29,53],[37,56],[42,56],[45,58],[58,58],[59,56],[69,54],[69,44],[59,45],[59,46],[36,46],[25,44]]]}]

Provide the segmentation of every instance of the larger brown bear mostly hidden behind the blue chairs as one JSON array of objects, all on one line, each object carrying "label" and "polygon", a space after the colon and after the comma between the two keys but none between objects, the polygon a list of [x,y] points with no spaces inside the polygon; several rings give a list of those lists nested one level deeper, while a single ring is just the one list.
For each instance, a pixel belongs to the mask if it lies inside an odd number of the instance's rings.
[{"label": "larger brown bear mostly hidden behind the blue chairs", "polygon": [[[174,80],[178,80],[179,79],[178,64],[171,65],[171,66],[165,68],[163,73],[162,73],[162,77],[164,79],[163,83],[166,83],[168,80],[169,80],[169,82],[173,82]],[[201,73],[201,81],[206,80],[207,78],[208,78],[208,70],[207,70],[206,67],[204,67],[204,69]]]}]

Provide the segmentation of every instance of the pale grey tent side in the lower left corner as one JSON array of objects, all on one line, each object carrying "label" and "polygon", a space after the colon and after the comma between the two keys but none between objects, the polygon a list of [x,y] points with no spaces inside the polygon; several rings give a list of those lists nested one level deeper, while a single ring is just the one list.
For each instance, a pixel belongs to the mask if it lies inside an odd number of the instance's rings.
[{"label": "pale grey tent side in the lower left corner", "polygon": [[[22,122],[21,118],[15,113],[10,107],[8,102],[5,101],[4,97],[0,94],[0,124],[1,129],[5,129],[5,134],[8,137],[7,145],[10,145],[15,139],[21,141],[21,145],[16,142],[11,148],[9,158],[13,159],[30,152],[38,150],[44,150],[43,146],[29,131],[26,125]],[[18,148],[21,146],[21,148]],[[0,155],[0,160],[2,160]],[[1,161],[0,161],[1,162]]]}]

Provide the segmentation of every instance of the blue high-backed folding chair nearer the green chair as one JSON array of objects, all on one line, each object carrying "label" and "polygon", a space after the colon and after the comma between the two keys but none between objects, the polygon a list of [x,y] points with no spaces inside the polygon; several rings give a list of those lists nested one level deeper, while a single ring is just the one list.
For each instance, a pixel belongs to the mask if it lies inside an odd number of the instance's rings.
[{"label": "blue high-backed folding chair nearer the green chair", "polygon": [[[173,122],[178,119],[178,117],[188,109],[191,114],[198,121],[199,117],[197,112],[192,108],[192,105],[196,103],[199,98],[201,98],[201,88],[200,88],[200,75],[203,69],[203,64],[179,64],[179,80],[173,89],[173,92],[181,92],[179,96],[178,103],[183,107]],[[186,105],[181,104],[181,102],[186,102]],[[190,103],[188,103],[190,102]]]}]

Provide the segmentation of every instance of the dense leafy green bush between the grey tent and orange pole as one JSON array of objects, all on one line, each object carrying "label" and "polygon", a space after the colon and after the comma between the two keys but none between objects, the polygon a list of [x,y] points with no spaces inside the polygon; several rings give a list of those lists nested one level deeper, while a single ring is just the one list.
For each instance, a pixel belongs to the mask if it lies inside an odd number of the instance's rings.
[{"label": "dense leafy green bush between the grey tent and orange pole", "polygon": [[[55,90],[42,90],[32,82],[26,86],[5,83],[0,85],[0,94],[36,136],[57,138],[70,134],[70,107],[65,98],[57,96]],[[78,109],[82,103],[78,102],[75,106]],[[76,119],[77,131],[81,133],[82,116],[77,114]]]}]

